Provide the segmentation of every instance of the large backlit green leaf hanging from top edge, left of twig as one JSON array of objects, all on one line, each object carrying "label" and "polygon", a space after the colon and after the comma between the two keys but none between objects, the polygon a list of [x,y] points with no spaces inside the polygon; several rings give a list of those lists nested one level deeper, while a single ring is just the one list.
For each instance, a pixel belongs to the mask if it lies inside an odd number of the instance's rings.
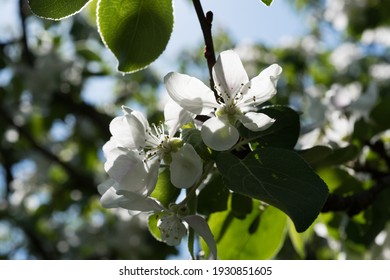
[{"label": "large backlit green leaf hanging from top edge, left of twig", "polygon": [[100,0],[98,28],[118,59],[118,70],[135,72],[164,51],[173,28],[172,0]]}]

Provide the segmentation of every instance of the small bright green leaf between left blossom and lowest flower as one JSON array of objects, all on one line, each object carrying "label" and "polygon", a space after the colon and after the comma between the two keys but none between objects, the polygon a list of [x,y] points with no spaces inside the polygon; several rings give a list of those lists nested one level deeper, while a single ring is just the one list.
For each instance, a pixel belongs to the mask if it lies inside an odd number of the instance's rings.
[{"label": "small bright green leaf between left blossom and lowest flower", "polygon": [[179,196],[179,194],[180,189],[176,188],[171,183],[169,169],[164,169],[158,175],[156,187],[150,196],[154,197],[160,201],[162,205],[168,208],[171,202],[176,201],[176,198]]}]

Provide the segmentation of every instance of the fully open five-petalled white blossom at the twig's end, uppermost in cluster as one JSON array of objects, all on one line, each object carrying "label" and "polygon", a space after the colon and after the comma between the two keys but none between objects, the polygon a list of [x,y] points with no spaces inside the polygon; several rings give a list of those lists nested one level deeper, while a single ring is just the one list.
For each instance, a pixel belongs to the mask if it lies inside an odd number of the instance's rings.
[{"label": "fully open five-petalled white blossom at the twig's end, uppermost in cluster", "polygon": [[210,148],[225,151],[239,139],[237,122],[252,131],[265,130],[275,122],[254,111],[276,94],[281,72],[282,68],[273,64],[249,80],[239,56],[229,50],[220,54],[212,71],[218,100],[209,87],[194,77],[172,72],[164,82],[170,97],[189,112],[207,115],[217,109],[215,116],[203,123],[201,136]]}]

